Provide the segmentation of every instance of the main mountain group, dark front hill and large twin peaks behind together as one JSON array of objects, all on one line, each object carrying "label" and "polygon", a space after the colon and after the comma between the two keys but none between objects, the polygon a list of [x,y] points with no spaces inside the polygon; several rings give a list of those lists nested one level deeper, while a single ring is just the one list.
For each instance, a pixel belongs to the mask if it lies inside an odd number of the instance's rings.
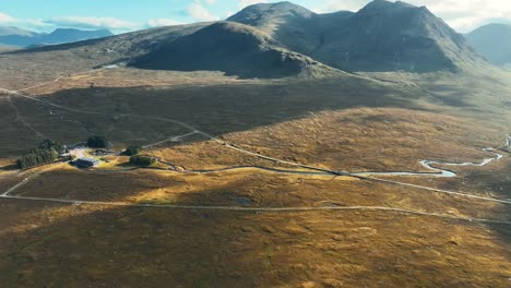
[{"label": "main mountain group, dark front hill and large twin peaks behind together", "polygon": [[328,14],[292,2],[260,3],[226,21],[39,49],[82,49],[95,65],[123,62],[142,69],[221,71],[239,77],[455,72],[489,65],[463,35],[426,7],[385,0],[375,0],[357,12]]}]

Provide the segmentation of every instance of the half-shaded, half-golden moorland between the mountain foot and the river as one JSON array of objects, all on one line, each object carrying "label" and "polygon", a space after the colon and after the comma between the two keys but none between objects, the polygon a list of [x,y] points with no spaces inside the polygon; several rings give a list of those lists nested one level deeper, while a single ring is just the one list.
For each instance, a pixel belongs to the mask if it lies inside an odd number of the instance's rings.
[{"label": "half-shaded, half-golden moorland between the mountain foot and the river", "polygon": [[[111,73],[127,74],[128,83],[135,82],[129,76],[132,71],[127,71],[102,73],[110,77]],[[141,79],[139,82],[145,81]],[[427,97],[415,86],[357,77],[346,82],[214,81],[193,87],[183,80],[175,83],[182,85],[99,86],[38,96],[79,111],[21,97],[11,100],[33,130],[66,143],[105,134],[120,146],[147,145],[192,131],[179,123],[138,116],[159,117],[181,121],[251,152],[350,171],[415,171],[421,169],[418,161],[427,158],[475,160],[484,155],[480,148],[503,137],[500,124],[440,116],[440,107],[426,103]],[[51,85],[47,88],[51,89]],[[14,109],[5,111],[5,121],[12,122],[15,117]],[[15,123],[26,133],[5,130],[3,155],[20,154],[41,139],[26,123]],[[20,136],[27,135],[29,141],[20,141]],[[263,165],[253,156],[241,155],[204,136],[187,140],[163,143],[151,153],[193,169]]]}]

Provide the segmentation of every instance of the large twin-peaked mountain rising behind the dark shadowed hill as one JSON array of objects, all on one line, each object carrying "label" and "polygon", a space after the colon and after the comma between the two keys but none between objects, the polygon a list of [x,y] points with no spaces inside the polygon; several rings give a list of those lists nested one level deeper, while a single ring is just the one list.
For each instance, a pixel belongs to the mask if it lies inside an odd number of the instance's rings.
[{"label": "large twin-peaked mountain rising behind the dark shadowed hill", "polygon": [[462,35],[425,7],[375,0],[357,13],[316,14],[290,2],[233,15],[288,49],[348,71],[455,70],[479,61]]}]

